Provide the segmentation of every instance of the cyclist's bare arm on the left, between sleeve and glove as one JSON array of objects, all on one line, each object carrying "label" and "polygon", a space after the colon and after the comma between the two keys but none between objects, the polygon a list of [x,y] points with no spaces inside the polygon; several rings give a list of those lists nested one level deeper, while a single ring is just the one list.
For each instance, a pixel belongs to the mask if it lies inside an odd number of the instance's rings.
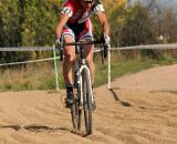
[{"label": "cyclist's bare arm on the left, between sleeve and glove", "polygon": [[65,23],[67,22],[69,18],[70,17],[67,14],[65,14],[65,13],[61,14],[59,23],[56,24],[56,30],[55,30],[56,38],[61,37],[62,29],[65,25]]}]

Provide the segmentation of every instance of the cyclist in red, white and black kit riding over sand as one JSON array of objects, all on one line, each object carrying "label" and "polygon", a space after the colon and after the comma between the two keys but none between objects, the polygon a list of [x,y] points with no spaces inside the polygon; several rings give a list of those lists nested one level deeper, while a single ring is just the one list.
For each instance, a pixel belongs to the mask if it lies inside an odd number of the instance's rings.
[{"label": "cyclist in red, white and black kit riding over sand", "polygon": [[[56,24],[56,44],[61,42],[61,34],[64,34],[64,41],[74,42],[75,38],[79,40],[84,39],[86,41],[93,40],[92,23],[90,17],[95,13],[101,23],[105,45],[110,45],[110,25],[104,13],[104,8],[98,0],[65,0],[59,23]],[[84,47],[86,52],[86,63],[91,71],[92,86],[94,84],[95,65],[93,62],[93,45]],[[65,47],[63,61],[63,76],[66,88],[66,107],[71,107],[73,104],[73,61],[75,50],[73,45]],[[94,102],[95,107],[95,102]]]}]

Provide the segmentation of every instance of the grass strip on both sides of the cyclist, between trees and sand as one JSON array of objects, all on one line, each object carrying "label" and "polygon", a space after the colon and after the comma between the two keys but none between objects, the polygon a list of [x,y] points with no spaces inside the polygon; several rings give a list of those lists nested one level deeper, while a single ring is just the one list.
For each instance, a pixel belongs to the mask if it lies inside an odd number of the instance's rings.
[{"label": "grass strip on both sides of the cyclist, between trees and sand", "polygon": [[[124,74],[135,73],[149,69],[155,64],[164,65],[177,62],[176,59],[162,60],[118,60],[117,54],[112,59],[112,80]],[[95,86],[107,82],[107,63],[102,64],[101,58],[95,58],[96,73]],[[61,64],[59,64],[61,66]],[[59,66],[60,89],[64,89],[63,75]],[[53,62],[41,62],[35,64],[20,65],[15,68],[0,69],[0,91],[22,91],[22,90],[54,90],[55,79]]]}]

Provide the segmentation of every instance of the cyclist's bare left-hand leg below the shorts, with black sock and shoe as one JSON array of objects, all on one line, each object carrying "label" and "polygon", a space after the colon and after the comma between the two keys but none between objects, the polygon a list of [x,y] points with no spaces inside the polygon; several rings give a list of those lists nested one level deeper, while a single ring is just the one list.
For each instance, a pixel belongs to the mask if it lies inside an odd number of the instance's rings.
[{"label": "cyclist's bare left-hand leg below the shorts, with black sock and shoe", "polygon": [[[65,37],[65,42],[73,42],[72,37]],[[71,106],[73,104],[73,61],[75,55],[75,49],[73,45],[64,48],[64,61],[63,61],[63,76],[66,88],[66,106]]]}]

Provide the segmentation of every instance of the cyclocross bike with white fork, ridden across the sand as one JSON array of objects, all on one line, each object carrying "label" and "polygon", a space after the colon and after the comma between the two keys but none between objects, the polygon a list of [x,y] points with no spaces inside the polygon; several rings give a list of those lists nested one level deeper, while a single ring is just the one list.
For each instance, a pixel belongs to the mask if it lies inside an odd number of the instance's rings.
[{"label": "cyclocross bike with white fork, ridden across the sand", "polygon": [[[74,60],[74,103],[71,106],[71,116],[74,131],[76,133],[84,133],[85,135],[92,134],[92,103],[93,103],[93,92],[91,86],[91,74],[85,60],[85,44],[97,44],[104,43],[104,40],[97,41],[76,41],[71,43],[64,42],[64,35],[62,35],[60,44],[60,60],[63,60],[64,47],[75,45]],[[104,48],[104,58],[107,55],[107,50]],[[82,121],[82,116],[84,121]]]}]

